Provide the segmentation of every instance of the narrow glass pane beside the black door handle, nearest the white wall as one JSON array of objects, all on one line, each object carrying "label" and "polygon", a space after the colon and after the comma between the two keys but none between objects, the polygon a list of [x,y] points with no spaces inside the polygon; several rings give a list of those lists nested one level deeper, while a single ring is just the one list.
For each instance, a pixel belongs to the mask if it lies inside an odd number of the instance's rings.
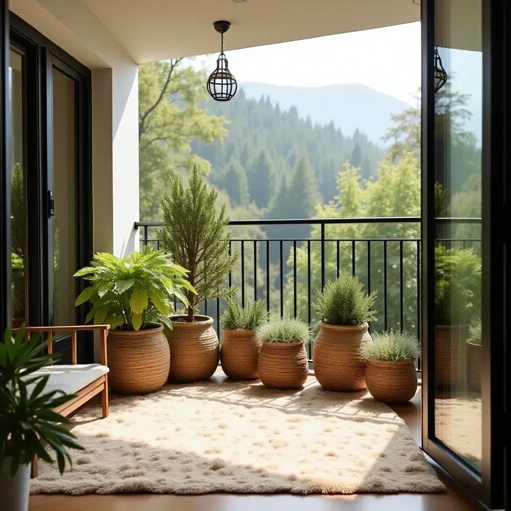
[{"label": "narrow glass pane beside the black door handle, nearest the white wall", "polygon": [[76,323],[75,81],[53,70],[54,314]]}]

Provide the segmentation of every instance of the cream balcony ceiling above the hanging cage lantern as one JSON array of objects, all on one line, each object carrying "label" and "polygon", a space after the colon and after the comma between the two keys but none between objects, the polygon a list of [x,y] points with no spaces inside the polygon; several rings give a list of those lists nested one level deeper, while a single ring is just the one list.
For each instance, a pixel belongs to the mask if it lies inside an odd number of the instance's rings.
[{"label": "cream balcony ceiling above the hanging cage lantern", "polygon": [[[72,1],[80,0],[66,0]],[[218,52],[213,22],[219,19],[231,22],[226,50],[420,19],[412,0],[81,1],[137,63]]]}]

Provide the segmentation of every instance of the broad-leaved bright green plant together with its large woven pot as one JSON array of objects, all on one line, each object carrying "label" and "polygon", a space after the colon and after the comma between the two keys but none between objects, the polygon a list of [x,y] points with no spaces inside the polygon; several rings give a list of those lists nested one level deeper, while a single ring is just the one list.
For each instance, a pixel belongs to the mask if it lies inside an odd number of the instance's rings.
[{"label": "broad-leaved bright green plant together with its large woven pot", "polygon": [[76,299],[89,300],[92,309],[85,322],[109,324],[108,383],[118,392],[143,394],[161,388],[169,376],[170,352],[162,325],[172,328],[167,317],[171,298],[187,304],[183,291],[194,289],[184,280],[187,270],[170,261],[162,250],[144,247],[129,257],[97,253],[91,266],[75,273],[92,285]]}]

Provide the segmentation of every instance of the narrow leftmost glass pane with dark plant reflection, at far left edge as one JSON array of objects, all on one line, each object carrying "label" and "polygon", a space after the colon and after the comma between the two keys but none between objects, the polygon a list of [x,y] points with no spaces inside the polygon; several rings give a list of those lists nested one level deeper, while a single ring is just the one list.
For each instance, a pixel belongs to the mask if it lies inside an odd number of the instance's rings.
[{"label": "narrow leftmost glass pane with dark plant reflection, at far left edge", "polygon": [[26,179],[24,133],[24,57],[9,52],[9,100],[11,104],[11,263],[12,327],[27,322],[26,316]]}]

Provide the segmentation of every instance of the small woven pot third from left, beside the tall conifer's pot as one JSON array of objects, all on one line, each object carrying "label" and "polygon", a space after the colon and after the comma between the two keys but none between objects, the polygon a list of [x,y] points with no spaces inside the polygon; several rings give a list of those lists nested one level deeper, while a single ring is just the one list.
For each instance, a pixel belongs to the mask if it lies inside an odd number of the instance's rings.
[{"label": "small woven pot third from left, beside the tall conifer's pot", "polygon": [[234,380],[259,378],[257,363],[262,342],[255,338],[255,330],[223,331],[220,363],[224,373]]}]

